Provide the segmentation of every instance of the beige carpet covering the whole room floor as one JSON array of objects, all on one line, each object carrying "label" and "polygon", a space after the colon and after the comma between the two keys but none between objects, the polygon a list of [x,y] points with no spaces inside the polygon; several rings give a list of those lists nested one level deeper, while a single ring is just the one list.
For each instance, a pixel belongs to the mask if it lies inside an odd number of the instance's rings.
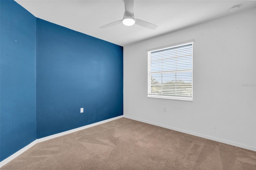
[{"label": "beige carpet covering the whole room floor", "polygon": [[1,169],[256,170],[256,152],[121,118],[38,143]]}]

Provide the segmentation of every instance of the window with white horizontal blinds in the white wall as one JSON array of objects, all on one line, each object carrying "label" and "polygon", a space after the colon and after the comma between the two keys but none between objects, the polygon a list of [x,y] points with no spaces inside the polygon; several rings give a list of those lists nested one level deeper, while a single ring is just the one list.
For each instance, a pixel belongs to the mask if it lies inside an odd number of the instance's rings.
[{"label": "window with white horizontal blinds in the white wall", "polygon": [[148,97],[193,100],[193,42],[148,51]]}]

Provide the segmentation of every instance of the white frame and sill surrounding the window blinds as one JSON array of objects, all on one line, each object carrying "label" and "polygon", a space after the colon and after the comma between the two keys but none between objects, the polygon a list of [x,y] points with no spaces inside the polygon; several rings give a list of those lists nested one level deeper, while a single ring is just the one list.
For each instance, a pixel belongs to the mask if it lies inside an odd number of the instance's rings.
[{"label": "white frame and sill surrounding the window blinds", "polygon": [[[168,96],[168,95],[158,95],[158,94],[150,94],[151,92],[151,70],[149,68],[149,64],[151,64],[151,53],[152,52],[155,52],[155,51],[162,51],[162,50],[165,50],[165,49],[171,49],[171,48],[176,48],[176,47],[181,47],[181,46],[185,46],[185,45],[192,45],[192,97],[179,97],[179,96]],[[191,39],[191,40],[188,40],[188,41],[183,41],[183,42],[180,42],[180,43],[175,43],[175,44],[172,44],[172,45],[165,45],[165,46],[162,46],[162,47],[157,47],[157,48],[154,48],[154,49],[148,49],[147,50],[147,53],[148,53],[148,98],[160,98],[160,99],[171,99],[171,100],[184,100],[184,101],[193,101],[193,45],[194,45],[194,39]],[[149,55],[150,53],[150,55]],[[149,58],[150,57],[150,58]],[[150,65],[151,67],[151,65]],[[185,72],[185,71],[184,71]],[[179,73],[179,72],[178,72]]]}]

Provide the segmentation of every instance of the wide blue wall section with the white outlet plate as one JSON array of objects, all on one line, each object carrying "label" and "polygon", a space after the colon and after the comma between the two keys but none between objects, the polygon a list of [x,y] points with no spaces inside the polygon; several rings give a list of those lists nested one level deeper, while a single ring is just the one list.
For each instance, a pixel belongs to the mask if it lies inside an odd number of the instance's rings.
[{"label": "wide blue wall section with the white outlet plate", "polygon": [[123,47],[37,19],[36,115],[37,138],[123,115]]}]

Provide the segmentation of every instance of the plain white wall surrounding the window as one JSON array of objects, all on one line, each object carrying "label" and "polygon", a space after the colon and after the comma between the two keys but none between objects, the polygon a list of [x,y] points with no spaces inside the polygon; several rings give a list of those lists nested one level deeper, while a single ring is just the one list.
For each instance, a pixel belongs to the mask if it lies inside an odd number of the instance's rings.
[{"label": "plain white wall surrounding the window", "polygon": [[[189,39],[193,102],[148,98],[147,49]],[[124,47],[125,117],[255,150],[256,87],[246,83],[256,83],[256,8]]]}]

